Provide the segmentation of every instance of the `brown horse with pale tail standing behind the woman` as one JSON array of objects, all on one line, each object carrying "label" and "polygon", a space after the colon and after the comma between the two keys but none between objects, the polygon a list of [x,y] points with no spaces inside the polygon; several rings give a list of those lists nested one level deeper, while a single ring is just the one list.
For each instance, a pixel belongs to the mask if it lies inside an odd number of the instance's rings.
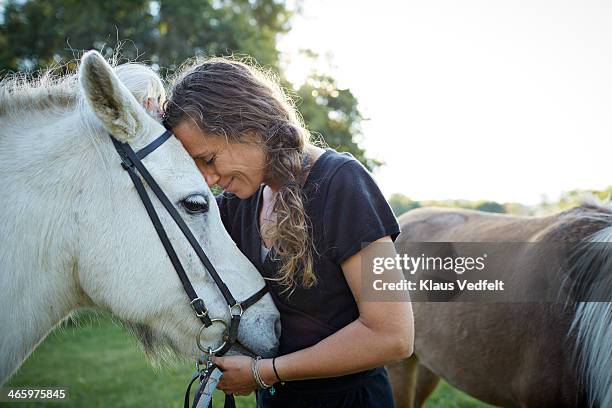
[{"label": "brown horse with pale tail standing behind the woman", "polygon": [[[423,208],[400,224],[399,254],[417,242],[612,241],[612,210],[595,202],[545,217]],[[585,252],[572,279],[587,294],[599,290],[601,279],[585,278],[610,279],[610,258],[605,245]],[[420,407],[440,377],[504,407],[612,406],[610,302],[414,302],[413,310],[415,356],[388,366],[398,407]]]}]

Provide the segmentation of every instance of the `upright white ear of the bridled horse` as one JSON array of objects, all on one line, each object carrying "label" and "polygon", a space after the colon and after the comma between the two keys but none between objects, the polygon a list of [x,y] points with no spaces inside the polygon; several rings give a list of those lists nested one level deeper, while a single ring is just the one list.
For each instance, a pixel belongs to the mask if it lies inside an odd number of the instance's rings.
[{"label": "upright white ear of the bridled horse", "polygon": [[97,51],[83,55],[79,81],[89,106],[115,138],[127,142],[140,132],[143,108]]}]

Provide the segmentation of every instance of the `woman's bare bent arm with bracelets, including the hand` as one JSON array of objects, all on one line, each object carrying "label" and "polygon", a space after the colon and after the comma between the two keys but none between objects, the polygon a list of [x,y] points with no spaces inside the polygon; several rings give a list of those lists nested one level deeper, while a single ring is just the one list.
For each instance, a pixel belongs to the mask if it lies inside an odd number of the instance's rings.
[{"label": "woman's bare bent arm with bracelets, including the hand", "polygon": [[[376,241],[391,242],[389,237]],[[361,260],[369,245],[342,263],[342,271],[359,308],[359,318],[319,343],[303,350],[277,357],[275,364],[280,378],[303,380],[346,375],[408,357],[414,343],[412,307],[405,302],[370,302],[361,298]],[[395,257],[392,245],[377,245],[376,256]],[[386,253],[383,253],[385,251]],[[394,280],[387,271],[386,278]],[[228,393],[250,392],[255,382],[250,372],[250,358],[221,357],[215,360],[225,373],[219,383]],[[246,366],[245,366],[246,364]],[[267,384],[277,382],[272,359],[260,360],[259,373]]]}]

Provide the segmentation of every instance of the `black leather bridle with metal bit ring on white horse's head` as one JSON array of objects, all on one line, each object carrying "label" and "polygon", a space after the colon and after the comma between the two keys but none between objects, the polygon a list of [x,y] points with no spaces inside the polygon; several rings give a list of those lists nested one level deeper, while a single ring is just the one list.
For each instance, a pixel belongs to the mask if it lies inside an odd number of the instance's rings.
[{"label": "black leather bridle with metal bit ring on white horse's head", "polygon": [[[172,202],[170,202],[170,200],[164,194],[155,179],[153,179],[151,174],[147,171],[146,167],[142,164],[141,160],[144,159],[151,152],[155,151],[155,149],[157,149],[166,140],[168,140],[170,136],[172,136],[172,133],[170,131],[165,131],[160,137],[149,143],[141,150],[135,152],[134,150],[132,150],[132,147],[129,144],[122,143],[115,139],[113,135],[110,135],[111,140],[113,141],[113,145],[115,146],[117,153],[119,153],[119,156],[121,157],[121,166],[128,172],[130,178],[132,179],[132,182],[136,187],[136,191],[138,191],[138,195],[140,196],[140,199],[142,200],[142,203],[144,204],[145,209],[149,214],[149,218],[151,218],[151,222],[153,223],[155,230],[157,231],[157,235],[159,236],[159,239],[164,245],[164,249],[166,250],[168,257],[170,258],[170,261],[172,262],[172,265],[174,266],[174,269],[176,270],[176,273],[178,274],[178,277],[181,280],[181,283],[183,284],[183,288],[185,289],[185,292],[189,297],[189,304],[195,311],[195,314],[198,319],[200,319],[203,324],[198,334],[198,347],[204,353],[220,356],[227,353],[227,351],[234,344],[238,343],[238,326],[240,324],[240,318],[242,317],[242,313],[250,306],[255,304],[259,299],[261,299],[268,292],[268,288],[264,286],[248,299],[242,302],[237,302],[236,299],[234,299],[234,297],[232,296],[232,293],[228,289],[227,285],[223,282],[223,280],[213,267],[212,263],[202,250],[202,247],[200,247],[200,244],[193,236],[193,233],[191,232],[187,224],[185,224],[185,221],[183,221],[183,219],[179,215]],[[170,214],[176,225],[178,225],[180,230],[183,232],[185,238],[187,238],[187,241],[189,241],[191,247],[204,264],[204,267],[208,270],[208,273],[217,284],[217,287],[221,291],[221,294],[225,298],[225,301],[227,302],[227,305],[229,307],[229,314],[231,316],[229,328],[227,327],[227,324],[223,319],[211,319],[208,315],[208,309],[206,308],[204,301],[198,297],[197,293],[193,289],[193,286],[191,285],[191,282],[189,281],[189,278],[185,273],[185,269],[183,268],[181,261],[176,255],[176,252],[172,247],[170,240],[168,239],[168,235],[166,234],[166,231],[164,230],[164,227],[162,226],[159,220],[159,216],[157,215],[157,212],[153,207],[153,203],[149,198],[145,186],[140,177],[138,177],[138,175],[136,174],[136,171],[140,173],[144,181],[149,185],[151,191],[153,191],[153,193],[157,196],[162,205],[166,208],[168,214]],[[212,326],[212,324],[215,322],[219,322],[226,326],[226,332],[223,336],[223,343],[217,349],[206,349],[201,344],[200,336],[205,328]]]}]

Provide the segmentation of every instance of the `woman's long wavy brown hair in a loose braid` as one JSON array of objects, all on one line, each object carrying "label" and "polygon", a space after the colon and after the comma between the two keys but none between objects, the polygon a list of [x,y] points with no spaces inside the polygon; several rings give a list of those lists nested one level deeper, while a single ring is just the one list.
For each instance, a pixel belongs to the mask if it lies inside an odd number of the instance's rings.
[{"label": "woman's long wavy brown hair in a loose braid", "polygon": [[[167,129],[185,120],[230,143],[256,143],[266,152],[265,179],[280,186],[273,212],[276,225],[266,231],[281,261],[278,280],[287,288],[317,281],[302,183],[310,134],[276,76],[228,58],[191,62],[173,79],[165,103]],[[269,234],[269,235],[268,235]]]}]

